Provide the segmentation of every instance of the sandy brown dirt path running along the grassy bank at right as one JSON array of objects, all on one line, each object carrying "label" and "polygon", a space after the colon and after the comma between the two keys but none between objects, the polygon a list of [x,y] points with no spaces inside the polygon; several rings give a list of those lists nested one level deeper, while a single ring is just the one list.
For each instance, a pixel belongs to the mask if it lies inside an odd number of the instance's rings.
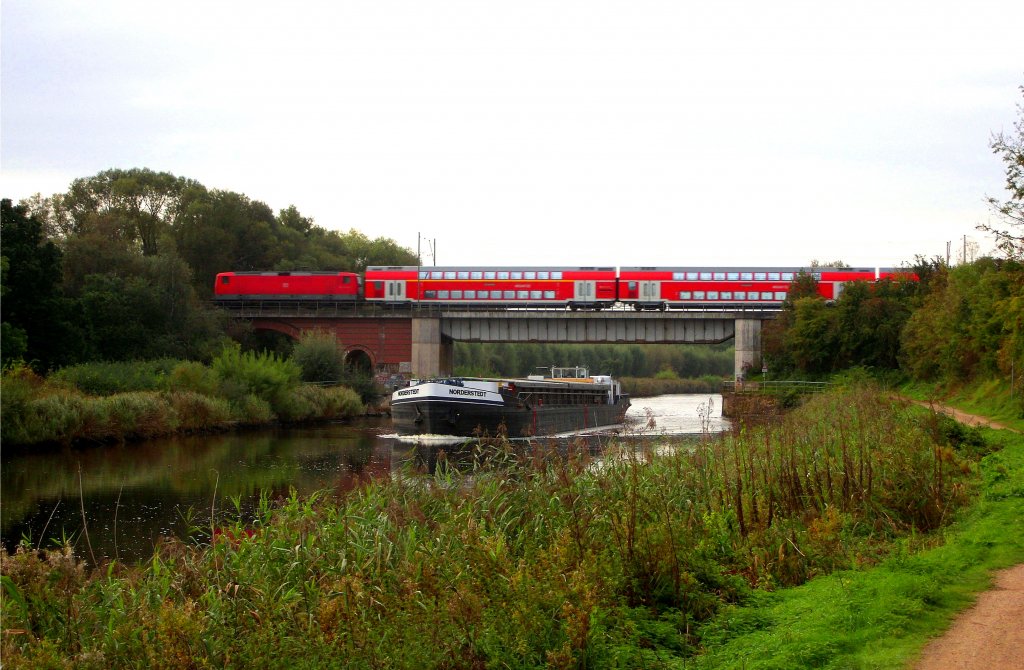
[{"label": "sandy brown dirt path running along the grassy bank at right", "polygon": [[[970,426],[1014,430],[956,408],[913,401]],[[1016,431],[1015,431],[1016,432]],[[1024,564],[995,575],[992,588],[925,647],[915,670],[1019,670],[1024,668]]]}]

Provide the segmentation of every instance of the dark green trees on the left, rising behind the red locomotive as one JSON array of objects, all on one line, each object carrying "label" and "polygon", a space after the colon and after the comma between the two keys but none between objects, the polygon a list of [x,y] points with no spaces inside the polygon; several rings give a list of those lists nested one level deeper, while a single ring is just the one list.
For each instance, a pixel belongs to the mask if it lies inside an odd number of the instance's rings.
[{"label": "dark green trees on the left, rising behind the red locomotive", "polygon": [[87,361],[210,360],[239,336],[209,306],[218,271],[415,264],[387,238],[330,231],[145,168],[2,201],[2,358],[39,371]]}]

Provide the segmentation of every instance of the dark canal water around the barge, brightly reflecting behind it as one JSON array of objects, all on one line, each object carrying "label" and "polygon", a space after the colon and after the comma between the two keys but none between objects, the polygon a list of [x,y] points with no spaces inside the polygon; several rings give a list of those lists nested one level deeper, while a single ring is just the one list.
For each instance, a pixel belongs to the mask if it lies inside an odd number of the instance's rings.
[{"label": "dark canal water around the barge, brightly reflecting behind it", "polygon": [[[717,394],[634,399],[627,435],[727,428]],[[601,437],[599,437],[601,438]],[[176,436],[123,446],[0,455],[0,539],[8,550],[68,539],[88,560],[144,560],[163,537],[209,529],[211,514],[243,515],[261,495],[342,494],[409,467],[451,439],[399,438],[390,419]],[[83,522],[84,519],[84,522]]]}]

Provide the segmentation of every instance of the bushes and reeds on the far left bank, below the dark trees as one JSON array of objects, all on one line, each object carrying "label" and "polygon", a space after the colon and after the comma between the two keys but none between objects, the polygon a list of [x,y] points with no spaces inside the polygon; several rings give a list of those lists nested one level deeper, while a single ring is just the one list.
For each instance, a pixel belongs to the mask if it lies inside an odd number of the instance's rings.
[{"label": "bushes and reeds on the far left bank, below the dark trees", "polygon": [[304,384],[291,361],[238,347],[225,348],[210,366],[85,364],[47,379],[14,366],[0,379],[0,396],[5,446],[145,439],[364,411],[355,391]]}]

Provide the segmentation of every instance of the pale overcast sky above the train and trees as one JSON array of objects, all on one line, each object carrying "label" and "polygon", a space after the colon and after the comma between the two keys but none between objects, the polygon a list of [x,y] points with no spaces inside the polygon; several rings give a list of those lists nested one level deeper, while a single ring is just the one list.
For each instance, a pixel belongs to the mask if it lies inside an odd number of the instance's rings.
[{"label": "pale overcast sky above the train and trees", "polygon": [[0,22],[3,197],[145,167],[422,235],[440,264],[986,251],[1024,84],[1019,0],[3,0]]}]

